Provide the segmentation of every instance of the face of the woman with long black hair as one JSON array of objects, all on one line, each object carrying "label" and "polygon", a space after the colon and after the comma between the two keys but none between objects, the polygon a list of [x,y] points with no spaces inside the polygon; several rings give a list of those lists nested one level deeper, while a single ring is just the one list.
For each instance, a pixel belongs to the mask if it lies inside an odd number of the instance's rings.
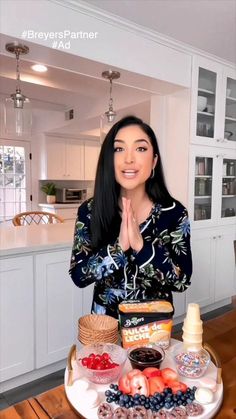
[{"label": "face of the woman with long black hair", "polygon": [[115,178],[121,188],[145,188],[156,166],[151,140],[138,125],[121,128],[114,140]]}]

